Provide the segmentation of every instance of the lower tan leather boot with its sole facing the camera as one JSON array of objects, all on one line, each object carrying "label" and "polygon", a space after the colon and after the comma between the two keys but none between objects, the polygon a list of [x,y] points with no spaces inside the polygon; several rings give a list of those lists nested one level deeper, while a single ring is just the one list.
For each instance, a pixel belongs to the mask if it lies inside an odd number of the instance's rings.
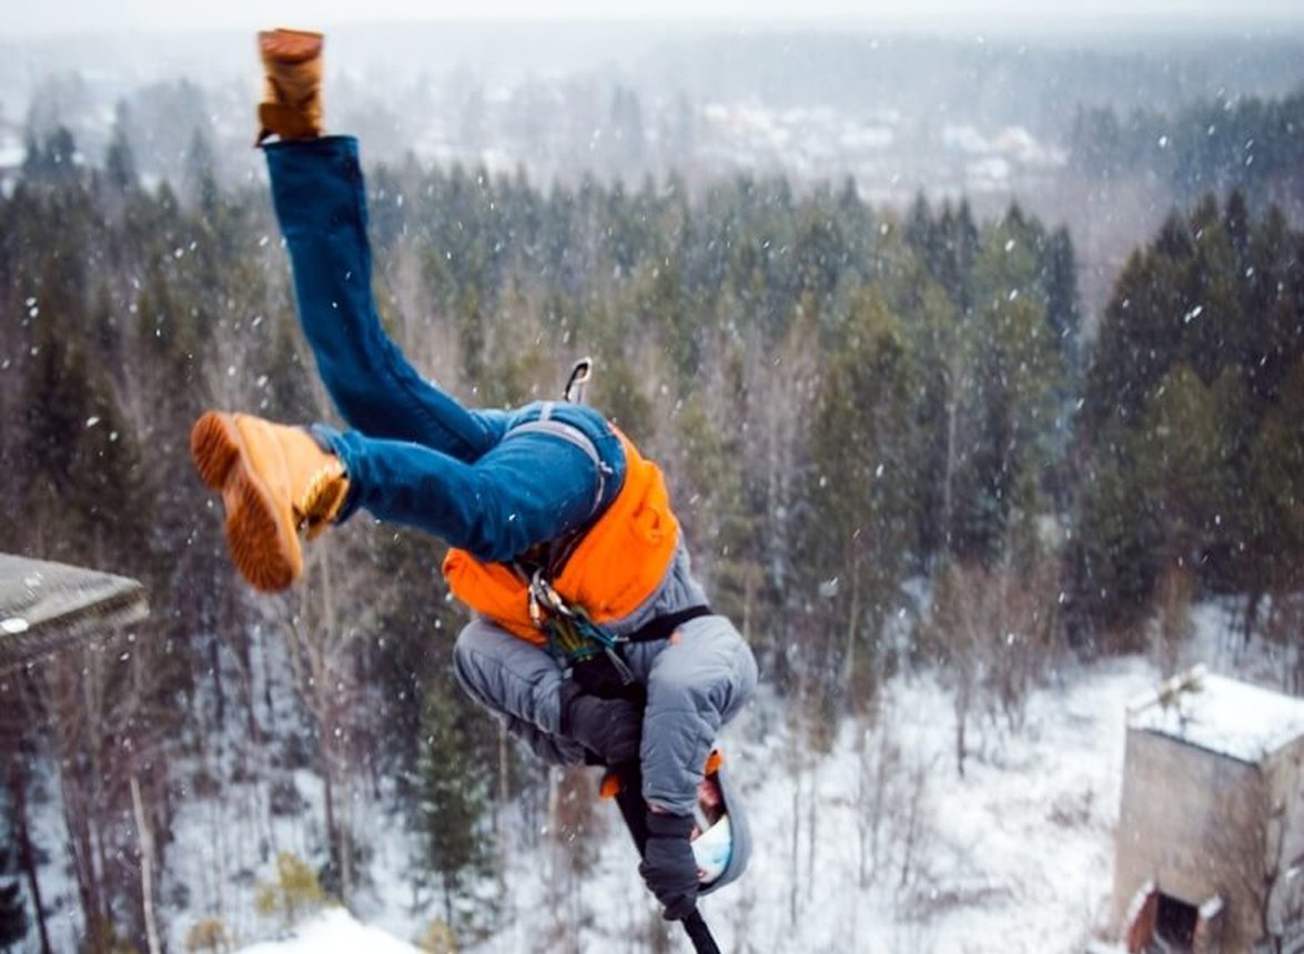
[{"label": "lower tan leather boot with its sole facing the camera", "polygon": [[348,478],[339,457],[303,427],[218,411],[190,429],[190,457],[222,494],[236,570],[256,589],[289,586],[304,571],[300,532],[318,536],[344,503]]}]

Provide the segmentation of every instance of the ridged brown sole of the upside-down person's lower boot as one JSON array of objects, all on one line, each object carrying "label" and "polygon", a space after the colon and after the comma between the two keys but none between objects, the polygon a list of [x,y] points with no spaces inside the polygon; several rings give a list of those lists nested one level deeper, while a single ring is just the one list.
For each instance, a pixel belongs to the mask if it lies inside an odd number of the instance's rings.
[{"label": "ridged brown sole of the upside-down person's lower boot", "polygon": [[282,519],[276,499],[249,467],[235,418],[206,412],[190,429],[190,459],[200,478],[222,494],[231,562],[254,589],[288,588],[303,568],[299,537]]}]

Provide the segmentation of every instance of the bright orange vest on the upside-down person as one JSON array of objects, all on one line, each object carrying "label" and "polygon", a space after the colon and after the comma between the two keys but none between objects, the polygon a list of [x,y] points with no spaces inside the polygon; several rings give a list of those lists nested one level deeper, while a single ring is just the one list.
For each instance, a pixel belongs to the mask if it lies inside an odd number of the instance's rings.
[{"label": "bright orange vest on the upside-down person", "polygon": [[[566,602],[582,606],[597,624],[630,615],[652,596],[679,538],[661,468],[619,430],[615,434],[625,444],[625,485],[550,580]],[[443,558],[443,579],[458,600],[514,636],[548,644],[529,616],[529,585],[514,567],[454,547]]]}]

